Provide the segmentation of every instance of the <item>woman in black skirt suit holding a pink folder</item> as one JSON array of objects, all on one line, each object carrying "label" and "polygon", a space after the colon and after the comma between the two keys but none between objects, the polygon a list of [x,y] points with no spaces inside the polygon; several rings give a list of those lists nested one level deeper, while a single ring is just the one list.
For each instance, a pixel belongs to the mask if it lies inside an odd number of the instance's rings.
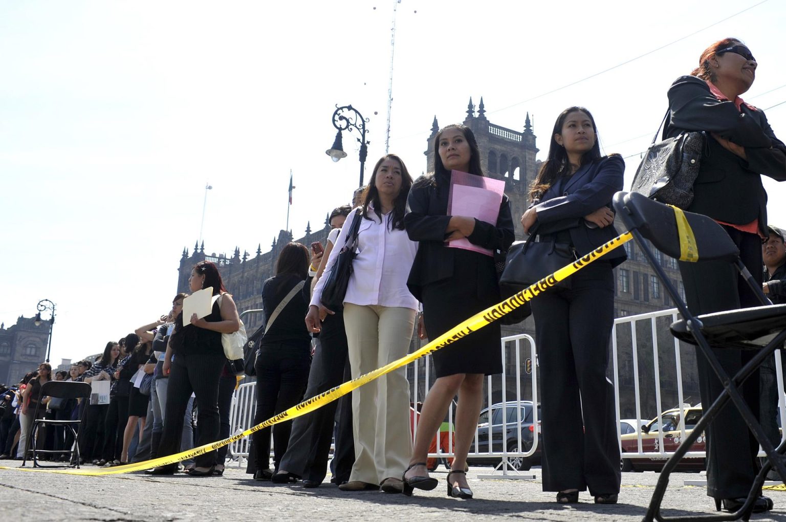
[{"label": "woman in black skirt suit holding a pink folder", "polygon": [[[461,193],[466,196],[472,192],[451,192],[451,179],[455,189],[458,178],[483,176],[472,130],[464,125],[444,127],[435,137],[434,149],[434,172],[415,182],[404,217],[410,239],[419,242],[407,281],[410,292],[423,303],[418,334],[422,338],[428,332],[432,339],[500,300],[494,257],[490,254],[497,249],[507,250],[513,241],[513,221],[505,194],[497,194],[499,208],[494,212],[494,223],[448,212],[451,195],[454,201],[450,203],[457,203],[455,198],[462,197]],[[458,172],[451,175],[451,171]],[[472,183],[479,185],[482,183]],[[462,184],[462,188],[466,186]],[[491,197],[489,193],[477,195],[483,200]],[[462,204],[454,206],[466,208]],[[465,243],[463,248],[451,248],[451,243],[459,241]],[[405,494],[412,494],[413,488],[432,490],[437,486],[425,465],[428,447],[458,394],[455,458],[448,474],[447,494],[472,498],[465,474],[467,454],[478,424],[483,376],[502,371],[499,339],[500,326],[492,323],[432,355],[437,379],[421,410],[410,467],[403,476]]]}]

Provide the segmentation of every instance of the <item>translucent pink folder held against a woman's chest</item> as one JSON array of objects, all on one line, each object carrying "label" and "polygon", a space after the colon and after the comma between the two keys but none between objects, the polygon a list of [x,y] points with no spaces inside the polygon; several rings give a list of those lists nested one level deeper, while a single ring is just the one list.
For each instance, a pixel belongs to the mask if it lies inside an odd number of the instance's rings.
[{"label": "translucent pink folder held against a woman's chest", "polygon": [[[450,192],[447,198],[448,215],[466,215],[479,221],[497,224],[499,205],[505,192],[505,182],[499,179],[483,178],[461,171],[450,171]],[[448,241],[451,248],[464,248],[493,256],[487,248],[472,244],[466,237]]]}]

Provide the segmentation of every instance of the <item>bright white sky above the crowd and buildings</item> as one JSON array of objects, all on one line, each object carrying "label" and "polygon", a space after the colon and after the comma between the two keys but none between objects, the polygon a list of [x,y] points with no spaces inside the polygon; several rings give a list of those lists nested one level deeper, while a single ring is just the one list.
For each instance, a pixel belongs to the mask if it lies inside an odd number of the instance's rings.
[{"label": "bright white sky above the crowd and buildings", "polygon": [[[542,159],[557,114],[585,105],[606,153],[636,154],[630,183],[668,86],[711,42],[735,36],[758,59],[746,101],[786,100],[786,4],[711,5],[402,0],[391,152],[420,175],[434,116],[462,121],[483,96],[493,123],[522,130],[530,112]],[[321,227],[358,183],[356,132],[346,159],[325,156],[336,104],[369,118],[366,180],[384,153],[392,13],[393,0],[0,3],[0,320],[53,300],[59,363],[166,312],[205,182],[206,253],[269,249],[290,169],[290,229]],[[786,138],[786,104],[766,112]],[[786,225],[786,186],[766,186]]]}]

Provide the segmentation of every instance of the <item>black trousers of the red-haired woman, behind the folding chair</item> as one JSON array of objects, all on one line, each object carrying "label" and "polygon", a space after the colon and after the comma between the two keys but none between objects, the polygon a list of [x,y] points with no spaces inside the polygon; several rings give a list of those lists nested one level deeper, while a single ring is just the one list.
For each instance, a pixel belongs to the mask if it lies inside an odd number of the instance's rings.
[{"label": "black trousers of the red-haired woman, behind the folding chair", "polygon": [[[758,235],[723,226],[740,248],[740,259],[762,285],[762,241]],[[736,310],[761,306],[755,293],[740,278],[736,269],[721,261],[680,262],[685,285],[685,299],[692,314]],[[736,373],[755,355],[754,351],[713,348],[715,357],[729,376]],[[701,403],[711,405],[723,391],[707,360],[696,357],[699,371]],[[759,414],[758,371],[744,382],[740,390],[753,413]],[[739,498],[747,495],[756,476],[758,443],[733,403],[726,403],[707,427],[707,495],[714,498]]]}]

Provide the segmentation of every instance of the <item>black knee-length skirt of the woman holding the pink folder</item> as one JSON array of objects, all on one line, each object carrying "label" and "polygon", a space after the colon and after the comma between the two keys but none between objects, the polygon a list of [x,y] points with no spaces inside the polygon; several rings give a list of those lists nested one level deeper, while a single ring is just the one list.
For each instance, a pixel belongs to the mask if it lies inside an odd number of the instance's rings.
[{"label": "black knee-length skirt of the woman holding the pink folder", "polygon": [[[501,298],[488,255],[456,249],[452,278],[423,287],[423,313],[428,339],[434,340]],[[432,354],[436,377],[456,373],[502,373],[501,330],[493,322]]]}]

